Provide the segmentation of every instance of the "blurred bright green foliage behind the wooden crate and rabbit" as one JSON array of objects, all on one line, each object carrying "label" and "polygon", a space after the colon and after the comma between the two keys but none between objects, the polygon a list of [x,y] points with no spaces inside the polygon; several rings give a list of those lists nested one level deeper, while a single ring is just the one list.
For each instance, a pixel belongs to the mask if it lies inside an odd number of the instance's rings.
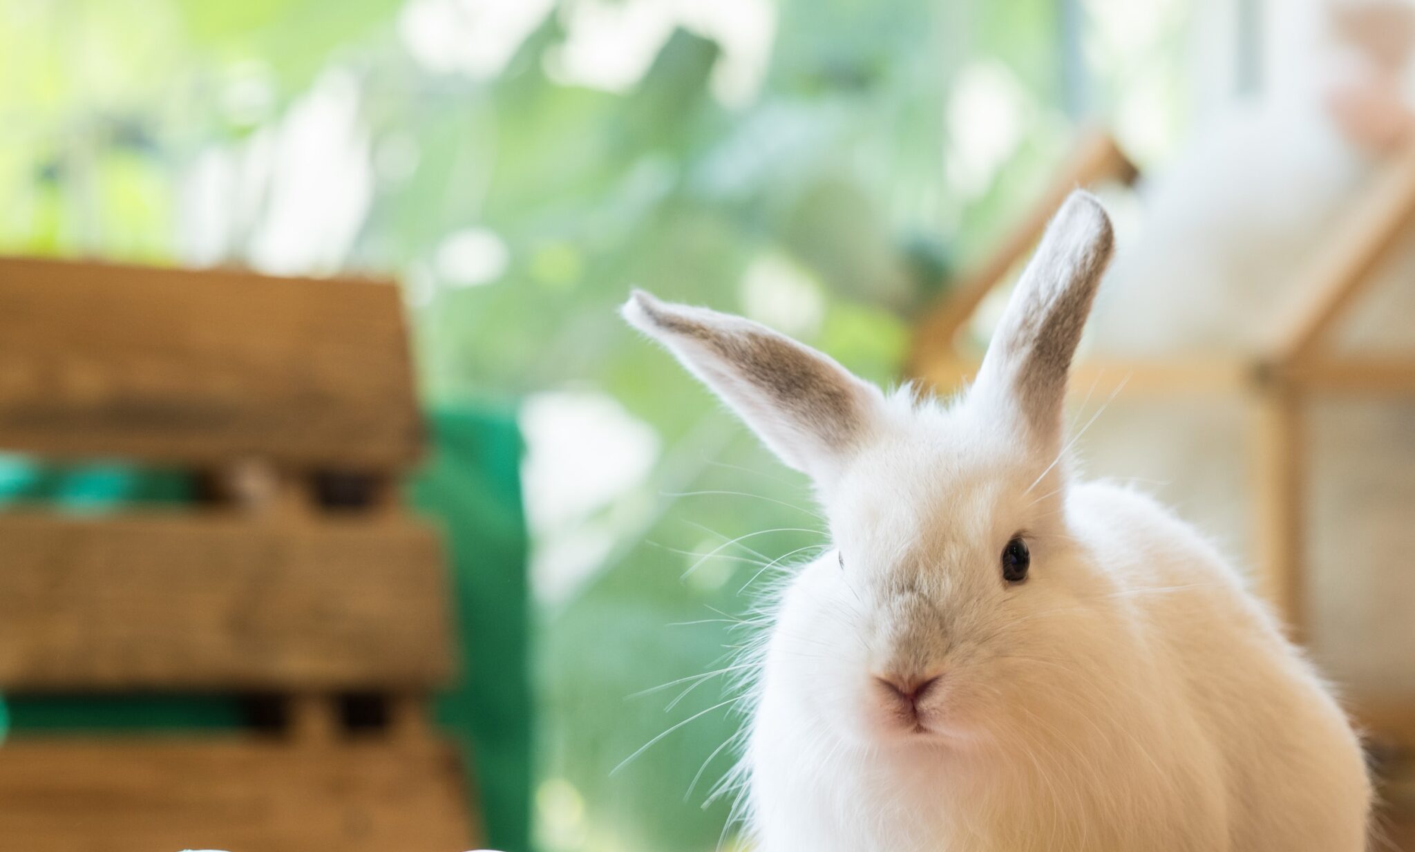
[{"label": "blurred bright green foliage behind the wooden crate and rabbit", "polygon": [[[802,484],[614,306],[640,284],[768,320],[804,311],[790,331],[890,381],[910,311],[1067,147],[1057,6],[746,3],[774,21],[770,61],[729,103],[713,86],[724,45],[702,27],[674,28],[623,91],[552,72],[573,7],[691,3],[560,0],[488,74],[410,48],[415,6],[516,1],[0,0],[0,251],[391,272],[432,399],[586,392],[647,423],[645,477],[536,531],[541,551],[556,536],[573,548],[580,529],[610,538],[567,593],[542,600],[538,836],[545,852],[712,849],[732,797],[699,804],[730,764],[730,750],[709,760],[739,729],[730,706],[610,770],[732,693],[709,681],[666,713],[674,691],[627,696],[730,652],[741,634],[713,618],[746,611],[753,560],[811,545],[802,531],[819,521]],[[299,142],[301,110],[330,91],[352,117]],[[969,103],[1003,110],[978,117],[992,137],[961,137]],[[282,168],[300,144],[306,159]],[[300,190],[301,171],[341,156],[327,201]],[[226,183],[202,183],[214,161]],[[283,214],[291,192],[308,208]],[[331,217],[348,219],[345,239],[270,259],[270,241],[325,239]],[[201,221],[218,225],[194,236]],[[467,228],[494,262],[477,286],[444,262]],[[709,494],[672,497],[693,491]],[[757,497],[716,494],[732,491]],[[683,576],[698,560],[685,553],[773,528]]]}]

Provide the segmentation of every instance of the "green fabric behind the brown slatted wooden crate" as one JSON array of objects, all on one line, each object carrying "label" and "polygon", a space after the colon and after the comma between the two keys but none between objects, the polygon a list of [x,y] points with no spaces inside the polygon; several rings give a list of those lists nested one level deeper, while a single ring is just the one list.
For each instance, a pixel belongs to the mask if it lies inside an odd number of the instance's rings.
[{"label": "green fabric behind the brown slatted wooden crate", "polygon": [[[451,604],[460,626],[461,674],[436,702],[443,730],[467,753],[480,795],[473,807],[488,844],[528,852],[531,824],[531,686],[526,534],[521,511],[521,436],[504,413],[447,409],[429,415],[426,461],[410,481],[419,514],[441,526]],[[61,505],[76,512],[192,498],[191,477],[103,463],[41,466],[0,456],[0,510]],[[224,695],[25,695],[0,699],[8,730],[173,732],[233,729],[241,702]]]}]

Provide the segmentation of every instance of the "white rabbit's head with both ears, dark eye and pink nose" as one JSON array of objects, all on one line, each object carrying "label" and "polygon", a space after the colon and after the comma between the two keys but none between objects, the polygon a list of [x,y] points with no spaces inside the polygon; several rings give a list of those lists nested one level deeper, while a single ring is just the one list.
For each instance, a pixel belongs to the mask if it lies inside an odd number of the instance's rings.
[{"label": "white rabbit's head with both ears, dark eye and pink nose", "polygon": [[1063,406],[1111,248],[1101,205],[1074,194],[947,406],[739,317],[641,292],[624,306],[815,483],[835,549],[787,587],[766,660],[802,719],[857,743],[978,740],[1084,635],[1036,616],[1105,582],[1067,534]]}]

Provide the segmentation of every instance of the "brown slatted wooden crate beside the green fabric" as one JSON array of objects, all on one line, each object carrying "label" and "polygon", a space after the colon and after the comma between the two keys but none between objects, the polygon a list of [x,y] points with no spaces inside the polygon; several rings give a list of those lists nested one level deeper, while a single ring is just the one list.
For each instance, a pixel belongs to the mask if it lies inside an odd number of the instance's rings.
[{"label": "brown slatted wooden crate beside the green fabric", "polygon": [[424,722],[453,627],[440,539],[398,500],[422,423],[396,286],[0,259],[0,449],[200,484],[191,507],[0,512],[0,691],[255,696],[269,718],[21,732],[0,845],[477,845]]}]

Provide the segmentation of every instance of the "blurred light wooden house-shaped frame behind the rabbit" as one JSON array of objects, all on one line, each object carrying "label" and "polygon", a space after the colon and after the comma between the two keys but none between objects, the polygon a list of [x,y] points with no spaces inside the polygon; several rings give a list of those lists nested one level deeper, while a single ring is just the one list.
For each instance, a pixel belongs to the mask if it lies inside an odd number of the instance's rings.
[{"label": "blurred light wooden house-shaped frame behind the rabbit", "polygon": [[[965,275],[917,323],[910,374],[938,388],[972,376],[976,362],[957,347],[958,331],[982,300],[1040,239],[1051,215],[1075,187],[1118,181],[1139,173],[1101,130],[1082,134],[1053,183],[998,249]],[[1415,142],[1394,154],[1375,175],[1343,225],[1319,251],[1293,313],[1282,317],[1257,357],[1230,359],[1155,358],[1084,361],[1073,386],[1126,395],[1240,396],[1251,409],[1259,586],[1285,620],[1293,640],[1306,628],[1303,512],[1307,476],[1306,402],[1316,395],[1415,396],[1415,354],[1408,358],[1336,355],[1332,328],[1360,299],[1371,272],[1415,222]],[[1415,749],[1415,696],[1363,699],[1353,708],[1375,735]]]}]

